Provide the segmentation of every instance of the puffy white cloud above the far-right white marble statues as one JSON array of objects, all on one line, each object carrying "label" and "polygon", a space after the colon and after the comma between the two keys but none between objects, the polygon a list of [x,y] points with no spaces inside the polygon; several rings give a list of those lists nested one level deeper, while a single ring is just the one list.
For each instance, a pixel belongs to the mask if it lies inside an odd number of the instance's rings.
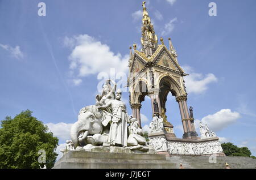
[{"label": "puffy white cloud above the far-right white marble statues", "polygon": [[212,131],[220,131],[240,118],[240,114],[232,112],[230,109],[221,109],[217,113],[209,114],[201,119],[201,122],[207,124]]}]

